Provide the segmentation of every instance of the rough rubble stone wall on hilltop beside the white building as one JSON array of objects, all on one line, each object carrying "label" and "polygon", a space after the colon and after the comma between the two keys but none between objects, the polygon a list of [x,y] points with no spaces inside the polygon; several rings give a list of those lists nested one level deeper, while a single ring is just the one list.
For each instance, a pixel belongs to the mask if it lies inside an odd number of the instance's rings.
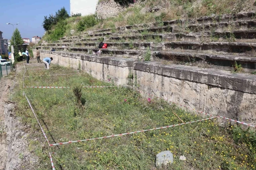
[{"label": "rough rubble stone wall on hilltop beside the white building", "polygon": [[[134,0],[134,3],[129,6],[141,6],[145,3],[145,0]],[[98,2],[96,6],[96,14],[100,19],[106,19],[108,17],[114,17],[118,13],[123,12],[126,9],[124,5],[116,3],[114,0],[102,0]]]}]

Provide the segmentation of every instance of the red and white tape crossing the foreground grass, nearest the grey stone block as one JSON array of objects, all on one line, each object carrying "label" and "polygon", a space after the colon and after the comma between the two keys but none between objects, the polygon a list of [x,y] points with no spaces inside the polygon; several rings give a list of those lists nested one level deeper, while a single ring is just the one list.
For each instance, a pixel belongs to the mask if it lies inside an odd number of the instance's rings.
[{"label": "red and white tape crossing the foreground grass, nearest the grey stone block", "polygon": [[127,134],[140,133],[140,132],[147,132],[147,131],[153,131],[153,130],[158,130],[158,129],[164,129],[164,128],[169,128],[169,127],[173,127],[173,126],[180,126],[180,125],[185,125],[185,124],[191,124],[191,123],[194,123],[194,122],[199,122],[199,121],[204,121],[204,120],[209,120],[209,119],[214,119],[214,118],[217,118],[217,117],[212,117],[212,118],[207,118],[207,119],[201,119],[201,120],[186,122],[186,123],[177,124],[177,125],[171,125],[171,126],[165,126],[165,127],[158,127],[158,128],[148,129],[148,130],[142,130],[142,131],[136,131],[136,132],[130,132],[130,133],[116,134],[116,135],[105,136],[105,137],[100,137],[100,138],[91,138],[91,139],[84,139],[84,140],[68,141],[68,142],[57,143],[57,144],[50,144],[49,146],[63,145],[63,144],[71,144],[71,143],[76,143],[76,142],[81,142],[81,141],[88,141],[88,140],[105,139],[105,138],[111,138],[111,137],[116,137],[116,136],[124,136],[124,135],[127,135]]}]

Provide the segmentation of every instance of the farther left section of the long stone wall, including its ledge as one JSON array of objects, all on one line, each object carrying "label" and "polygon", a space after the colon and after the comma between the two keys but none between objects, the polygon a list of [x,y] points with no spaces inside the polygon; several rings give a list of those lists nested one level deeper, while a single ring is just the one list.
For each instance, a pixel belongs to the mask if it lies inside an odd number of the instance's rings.
[{"label": "farther left section of the long stone wall, including its ledge", "polygon": [[[33,51],[35,53],[35,51]],[[132,58],[96,57],[83,53],[40,50],[41,58],[53,57],[53,64],[80,69],[98,80],[114,82],[116,85],[132,87],[132,80],[127,78],[133,74],[133,63],[138,61]],[[79,66],[80,65],[80,66]]]}]

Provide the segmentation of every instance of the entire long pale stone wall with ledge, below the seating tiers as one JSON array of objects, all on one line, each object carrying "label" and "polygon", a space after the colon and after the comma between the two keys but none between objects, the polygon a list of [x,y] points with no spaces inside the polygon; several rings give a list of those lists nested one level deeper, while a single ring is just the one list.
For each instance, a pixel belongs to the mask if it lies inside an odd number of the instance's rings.
[{"label": "entire long pale stone wall with ledge, below the seating tiers", "polygon": [[[41,50],[54,64],[79,67],[99,80],[131,86],[143,96],[160,97],[178,105],[256,124],[256,76],[184,65],[136,62],[136,59],[96,57],[83,53]],[[133,79],[128,75],[133,73]],[[152,96],[150,96],[152,97]]]}]

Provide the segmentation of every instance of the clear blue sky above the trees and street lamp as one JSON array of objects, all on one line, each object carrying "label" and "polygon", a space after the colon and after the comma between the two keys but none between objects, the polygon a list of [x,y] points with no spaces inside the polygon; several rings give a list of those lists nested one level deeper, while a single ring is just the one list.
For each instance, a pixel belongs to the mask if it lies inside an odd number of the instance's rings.
[{"label": "clear blue sky above the trees and street lamp", "polygon": [[44,16],[49,14],[55,15],[57,10],[65,7],[68,14],[70,13],[69,0],[2,0],[0,11],[0,31],[3,32],[3,38],[10,39],[13,33],[12,25],[16,24],[22,38],[33,36],[42,37],[44,29],[42,26]]}]

